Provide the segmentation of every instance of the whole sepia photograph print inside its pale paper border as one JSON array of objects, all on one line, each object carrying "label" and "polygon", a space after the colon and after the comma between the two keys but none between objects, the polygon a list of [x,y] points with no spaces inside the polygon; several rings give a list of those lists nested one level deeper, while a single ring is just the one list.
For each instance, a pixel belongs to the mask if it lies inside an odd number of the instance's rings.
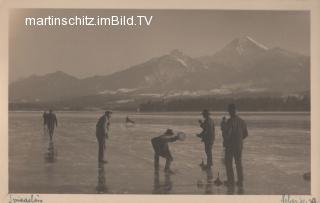
[{"label": "whole sepia photograph print inside its pale paper border", "polygon": [[311,195],[310,19],[10,9],[9,193]]}]

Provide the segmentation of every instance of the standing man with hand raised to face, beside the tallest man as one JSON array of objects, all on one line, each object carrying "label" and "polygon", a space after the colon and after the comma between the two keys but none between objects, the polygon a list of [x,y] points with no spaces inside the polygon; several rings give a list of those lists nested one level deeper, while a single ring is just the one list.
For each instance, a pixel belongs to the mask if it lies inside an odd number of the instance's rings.
[{"label": "standing man with hand raised to face, beside the tallest man", "polygon": [[207,109],[202,111],[202,116],[204,121],[199,120],[202,132],[197,134],[197,136],[201,138],[202,142],[204,142],[204,150],[207,155],[207,165],[205,168],[210,169],[212,167],[212,145],[215,138],[214,123],[210,118],[210,112]]}]

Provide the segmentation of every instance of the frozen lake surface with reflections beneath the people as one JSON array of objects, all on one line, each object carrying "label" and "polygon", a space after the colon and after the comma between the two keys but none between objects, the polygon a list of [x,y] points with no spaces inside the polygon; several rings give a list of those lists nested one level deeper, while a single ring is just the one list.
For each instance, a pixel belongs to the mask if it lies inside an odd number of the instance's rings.
[{"label": "frozen lake surface with reflections beneath the people", "polygon": [[[244,142],[244,189],[228,191],[211,184],[218,172],[226,179],[222,163],[220,119],[216,125],[212,174],[202,172],[205,158],[199,138],[200,113],[124,113],[112,115],[107,141],[108,164],[97,163],[95,123],[103,112],[56,112],[59,126],[53,142],[44,134],[42,112],[9,113],[10,193],[116,193],[116,194],[309,194],[309,113],[239,113],[247,122]],[[125,117],[136,125],[126,127]],[[153,170],[150,139],[167,128],[184,131],[184,142],[170,144],[175,174]],[[207,183],[208,184],[205,184]]]}]

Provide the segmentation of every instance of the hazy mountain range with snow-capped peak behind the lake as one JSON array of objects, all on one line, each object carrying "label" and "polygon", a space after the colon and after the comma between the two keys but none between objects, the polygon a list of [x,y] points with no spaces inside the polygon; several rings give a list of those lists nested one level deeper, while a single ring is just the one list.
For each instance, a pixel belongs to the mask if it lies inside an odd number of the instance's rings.
[{"label": "hazy mountain range with snow-capped peak behind the lake", "polygon": [[32,75],[9,85],[9,102],[116,98],[126,103],[137,97],[286,95],[309,90],[309,56],[240,37],[212,55],[193,58],[173,50],[110,75],[84,79],[62,71]]}]

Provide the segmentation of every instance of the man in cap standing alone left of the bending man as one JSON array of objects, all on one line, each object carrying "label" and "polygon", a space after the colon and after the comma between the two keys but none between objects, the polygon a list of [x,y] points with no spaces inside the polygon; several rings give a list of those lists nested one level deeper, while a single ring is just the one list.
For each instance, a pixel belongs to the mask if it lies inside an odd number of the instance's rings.
[{"label": "man in cap standing alone left of the bending man", "polygon": [[107,163],[104,160],[104,150],[106,147],[106,139],[109,138],[109,125],[111,119],[111,111],[106,111],[103,116],[101,116],[96,124],[96,137],[98,140],[98,161],[99,163]]}]

